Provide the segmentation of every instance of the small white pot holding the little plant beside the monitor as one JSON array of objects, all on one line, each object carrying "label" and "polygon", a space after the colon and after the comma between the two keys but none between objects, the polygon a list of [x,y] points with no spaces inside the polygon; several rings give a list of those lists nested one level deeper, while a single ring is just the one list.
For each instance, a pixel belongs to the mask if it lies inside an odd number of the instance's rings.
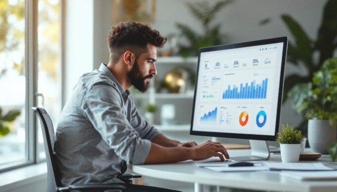
[{"label": "small white pot holding the little plant beside the monitor", "polygon": [[301,144],[280,144],[283,163],[298,162],[301,153]]}]

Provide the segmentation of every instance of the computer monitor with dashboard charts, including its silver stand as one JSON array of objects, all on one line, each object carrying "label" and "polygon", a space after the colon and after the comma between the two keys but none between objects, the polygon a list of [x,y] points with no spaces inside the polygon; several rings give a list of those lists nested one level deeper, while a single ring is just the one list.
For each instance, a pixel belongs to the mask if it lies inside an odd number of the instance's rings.
[{"label": "computer monitor with dashboard charts, including its silver stand", "polygon": [[251,155],[270,156],[279,132],[287,37],[200,48],[191,135],[249,139]]}]

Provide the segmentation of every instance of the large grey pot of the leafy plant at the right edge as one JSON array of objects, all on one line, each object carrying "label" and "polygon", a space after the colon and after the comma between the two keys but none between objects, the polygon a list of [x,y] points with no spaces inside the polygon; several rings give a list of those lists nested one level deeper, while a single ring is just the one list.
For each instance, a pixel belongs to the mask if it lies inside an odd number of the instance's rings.
[{"label": "large grey pot of the leafy plant at the right edge", "polygon": [[328,154],[328,145],[336,140],[337,129],[329,120],[310,119],[308,122],[308,142],[313,152]]}]

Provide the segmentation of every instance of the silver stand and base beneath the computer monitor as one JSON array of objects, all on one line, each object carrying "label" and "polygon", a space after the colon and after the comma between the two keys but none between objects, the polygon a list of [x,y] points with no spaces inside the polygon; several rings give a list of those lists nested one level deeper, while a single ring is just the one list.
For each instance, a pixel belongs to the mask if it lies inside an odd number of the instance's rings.
[{"label": "silver stand and base beneath the computer monitor", "polygon": [[270,157],[269,146],[267,141],[249,140],[251,154],[249,156],[230,157],[234,161],[256,161],[268,160]]}]

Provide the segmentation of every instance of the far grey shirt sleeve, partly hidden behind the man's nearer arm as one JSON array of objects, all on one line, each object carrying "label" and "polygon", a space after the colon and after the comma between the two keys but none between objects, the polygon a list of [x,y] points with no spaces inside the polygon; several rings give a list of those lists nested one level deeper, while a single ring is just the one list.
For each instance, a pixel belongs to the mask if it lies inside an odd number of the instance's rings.
[{"label": "far grey shirt sleeve, partly hidden behind the man's nearer arm", "polygon": [[157,135],[161,134],[138,113],[136,106],[133,103],[131,118],[131,126],[138,132],[140,138],[152,141]]}]

